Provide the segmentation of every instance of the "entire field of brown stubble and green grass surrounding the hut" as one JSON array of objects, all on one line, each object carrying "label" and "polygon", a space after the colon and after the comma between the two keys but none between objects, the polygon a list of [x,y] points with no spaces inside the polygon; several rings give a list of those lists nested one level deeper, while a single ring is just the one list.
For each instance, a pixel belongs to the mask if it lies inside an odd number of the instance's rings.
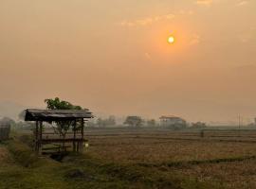
[{"label": "entire field of brown stubble and green grass surrounding the hut", "polygon": [[0,144],[0,188],[256,188],[254,129],[86,129],[61,162],[37,157],[31,133]]}]

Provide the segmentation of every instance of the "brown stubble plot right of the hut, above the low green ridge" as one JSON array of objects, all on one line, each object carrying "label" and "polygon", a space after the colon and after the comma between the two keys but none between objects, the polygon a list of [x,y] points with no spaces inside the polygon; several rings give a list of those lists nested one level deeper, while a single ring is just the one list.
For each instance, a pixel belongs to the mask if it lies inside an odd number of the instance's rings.
[{"label": "brown stubble plot right of the hut, above the low green ridge", "polygon": [[90,154],[97,158],[121,162],[166,162],[208,160],[256,155],[256,144],[157,140],[96,138],[90,140]]}]

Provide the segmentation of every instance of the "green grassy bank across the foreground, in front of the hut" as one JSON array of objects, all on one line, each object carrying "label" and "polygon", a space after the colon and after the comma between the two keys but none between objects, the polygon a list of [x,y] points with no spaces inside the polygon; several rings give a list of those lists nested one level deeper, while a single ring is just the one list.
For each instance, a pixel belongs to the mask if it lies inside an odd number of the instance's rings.
[{"label": "green grassy bank across the foreground, in front of the hut", "polygon": [[89,155],[70,154],[62,163],[38,157],[28,139],[17,137],[5,147],[14,162],[0,170],[2,189],[208,189],[219,188],[139,164],[107,163]]}]

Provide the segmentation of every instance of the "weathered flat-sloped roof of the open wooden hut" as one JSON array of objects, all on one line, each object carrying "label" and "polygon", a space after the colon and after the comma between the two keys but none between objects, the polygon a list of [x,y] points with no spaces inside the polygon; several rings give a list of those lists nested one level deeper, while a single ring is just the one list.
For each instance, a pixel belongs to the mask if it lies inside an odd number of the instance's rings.
[{"label": "weathered flat-sloped roof of the open wooden hut", "polygon": [[27,109],[25,121],[60,121],[93,118],[89,110],[37,110]]}]

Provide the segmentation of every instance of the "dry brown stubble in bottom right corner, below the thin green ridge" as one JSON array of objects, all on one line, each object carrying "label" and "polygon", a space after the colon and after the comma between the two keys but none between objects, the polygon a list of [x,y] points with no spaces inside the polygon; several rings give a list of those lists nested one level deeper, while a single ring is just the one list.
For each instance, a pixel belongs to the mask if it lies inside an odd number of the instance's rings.
[{"label": "dry brown stubble in bottom right corner, below the thin green ridge", "polygon": [[172,168],[177,174],[198,180],[222,182],[227,188],[256,188],[256,161],[245,160],[232,163],[203,163]]}]

